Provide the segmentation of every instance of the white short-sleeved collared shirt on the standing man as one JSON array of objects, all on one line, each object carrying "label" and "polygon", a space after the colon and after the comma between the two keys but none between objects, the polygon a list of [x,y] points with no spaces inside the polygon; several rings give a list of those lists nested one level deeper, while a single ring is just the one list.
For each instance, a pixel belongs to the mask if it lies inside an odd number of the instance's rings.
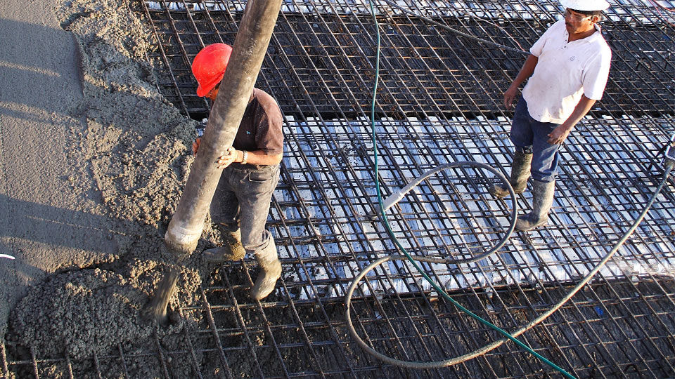
[{"label": "white short-sleeved collared shirt on the standing man", "polygon": [[577,107],[581,94],[603,98],[610,74],[612,51],[600,33],[567,42],[565,20],[551,25],[529,52],[539,60],[522,90],[529,115],[541,122],[563,124]]}]

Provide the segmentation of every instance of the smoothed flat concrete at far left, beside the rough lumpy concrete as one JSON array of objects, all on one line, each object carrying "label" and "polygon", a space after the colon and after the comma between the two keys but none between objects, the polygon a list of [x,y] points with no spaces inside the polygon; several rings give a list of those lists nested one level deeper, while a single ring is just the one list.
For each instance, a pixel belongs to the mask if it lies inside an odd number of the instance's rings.
[{"label": "smoothed flat concrete at far left, beside the rough lumpy concrete", "polygon": [[[72,117],[82,100],[77,48],[56,0],[0,4],[0,336],[27,288],[60,267],[107,260],[117,250]],[[107,241],[101,244],[101,241]]]}]

